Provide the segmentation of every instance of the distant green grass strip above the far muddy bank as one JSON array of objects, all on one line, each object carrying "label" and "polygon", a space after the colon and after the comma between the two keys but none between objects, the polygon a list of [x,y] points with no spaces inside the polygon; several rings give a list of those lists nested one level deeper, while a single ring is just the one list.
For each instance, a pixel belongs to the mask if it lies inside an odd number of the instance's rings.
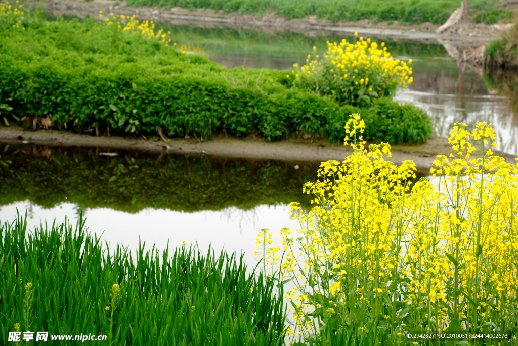
[{"label": "distant green grass strip above the far muddy bank", "polygon": [[[471,0],[470,6],[478,8],[487,0]],[[494,0],[490,4],[497,3]],[[394,21],[405,23],[432,22],[442,24],[459,6],[454,0],[128,0],[130,6],[179,6],[183,8],[210,8],[224,12],[239,11],[264,15],[273,11],[286,18],[316,16],[332,21]]]}]

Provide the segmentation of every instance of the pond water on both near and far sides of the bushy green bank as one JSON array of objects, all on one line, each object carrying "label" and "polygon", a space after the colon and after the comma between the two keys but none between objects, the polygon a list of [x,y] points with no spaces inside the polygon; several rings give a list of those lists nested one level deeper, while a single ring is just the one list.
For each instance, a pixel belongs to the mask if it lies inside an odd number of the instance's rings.
[{"label": "pond water on both near and far sides of the bushy green bank", "polygon": [[[326,40],[346,36],[267,33],[226,27],[175,26],[171,31],[183,50],[206,54],[223,66],[290,69],[304,63],[315,46],[324,52]],[[351,39],[350,37],[348,39]],[[518,116],[512,93],[499,94],[498,82],[459,66],[437,42],[384,41],[394,56],[413,59],[414,82],[395,99],[425,109],[437,136],[448,136],[455,122],[471,128],[493,123],[499,149],[518,155]],[[492,80],[492,83],[488,83]],[[498,81],[498,80],[497,80]],[[489,88],[486,82],[492,86]],[[508,88],[509,89],[509,88]],[[28,225],[45,219],[75,222],[81,208],[91,232],[109,244],[130,249],[139,241],[158,248],[198,243],[203,251],[246,252],[255,263],[257,232],[276,234],[295,229],[288,204],[309,205],[302,194],[315,179],[318,162],[221,159],[205,155],[178,156],[102,148],[46,148],[0,144],[0,221],[12,221],[27,210]],[[296,167],[298,169],[296,169]]]}]

